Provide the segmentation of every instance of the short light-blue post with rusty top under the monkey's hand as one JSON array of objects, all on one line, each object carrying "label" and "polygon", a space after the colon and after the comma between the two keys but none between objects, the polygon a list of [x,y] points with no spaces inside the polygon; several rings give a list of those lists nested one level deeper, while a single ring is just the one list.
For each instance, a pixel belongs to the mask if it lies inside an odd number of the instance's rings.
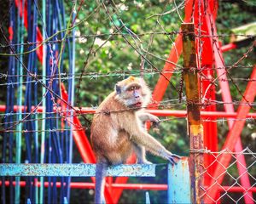
[{"label": "short light-blue post with rusty top under the monkey's hand", "polygon": [[187,157],[168,165],[168,203],[191,203],[189,162]]}]

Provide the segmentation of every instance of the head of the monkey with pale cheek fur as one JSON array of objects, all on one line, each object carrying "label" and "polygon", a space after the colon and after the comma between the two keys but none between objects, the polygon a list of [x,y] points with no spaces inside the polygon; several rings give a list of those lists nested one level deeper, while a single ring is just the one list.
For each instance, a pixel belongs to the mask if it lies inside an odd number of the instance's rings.
[{"label": "head of the monkey with pale cheek fur", "polygon": [[[128,78],[129,79],[129,78]],[[135,78],[130,82],[127,79],[116,84],[116,99],[123,105],[131,109],[141,109],[148,105],[151,97],[150,90],[141,79]]]}]

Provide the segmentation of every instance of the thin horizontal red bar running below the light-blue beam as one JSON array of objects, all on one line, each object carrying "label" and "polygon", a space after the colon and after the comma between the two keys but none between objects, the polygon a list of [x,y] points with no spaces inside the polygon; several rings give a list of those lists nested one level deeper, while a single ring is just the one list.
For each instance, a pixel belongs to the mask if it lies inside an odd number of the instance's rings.
[{"label": "thin horizontal red bar running below the light-blue beam", "polygon": [[[41,183],[38,182],[38,187],[41,186]],[[2,185],[2,181],[0,181],[0,186]],[[9,186],[9,181],[5,181],[5,185]],[[16,182],[13,182],[13,185],[16,185]],[[20,181],[20,186],[25,187],[26,182]],[[44,187],[48,187],[49,183],[44,182]],[[61,187],[61,182],[56,182],[57,188]],[[71,182],[70,187],[72,189],[94,189],[95,184],[94,183],[87,183],[87,182]],[[167,184],[112,184],[111,186],[113,189],[123,189],[123,190],[167,190]],[[205,189],[207,189],[209,186],[205,186]],[[222,186],[219,187],[220,191],[223,192],[247,192],[252,191],[253,193],[256,193],[256,187],[252,187],[250,189],[244,189],[240,186]]]}]

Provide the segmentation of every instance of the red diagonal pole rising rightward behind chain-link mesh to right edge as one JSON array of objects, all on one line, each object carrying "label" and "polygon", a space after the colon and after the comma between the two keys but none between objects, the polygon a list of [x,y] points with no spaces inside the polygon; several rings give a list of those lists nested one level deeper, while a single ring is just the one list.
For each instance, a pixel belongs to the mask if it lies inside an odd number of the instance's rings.
[{"label": "red diagonal pole rising rightward behind chain-link mesh to right edge", "polygon": [[[253,69],[251,79],[256,79],[256,66]],[[238,111],[237,111],[238,113],[237,119],[246,118],[246,115],[251,107],[249,105],[245,105],[245,103],[247,103],[247,101],[249,103],[253,103],[256,95],[255,90],[256,90],[256,82],[255,81],[248,82],[247,88],[244,94],[244,98],[246,100],[241,99],[241,105],[239,105]],[[240,137],[244,124],[245,124],[245,120],[237,120],[236,122],[234,122],[232,129],[230,129],[230,132],[227,135],[227,139],[224,143],[223,150],[230,150],[230,151],[234,150],[237,139],[239,139]],[[206,199],[205,199],[206,203],[212,203],[212,199],[213,201],[215,201],[215,198],[218,192],[218,186],[221,185],[224,179],[224,175],[226,173],[227,167],[229,166],[230,160],[231,160],[230,154],[224,154],[217,158],[218,164],[217,164],[215,173],[212,175],[212,182],[210,184],[210,187],[207,190],[208,196],[206,196]]]}]

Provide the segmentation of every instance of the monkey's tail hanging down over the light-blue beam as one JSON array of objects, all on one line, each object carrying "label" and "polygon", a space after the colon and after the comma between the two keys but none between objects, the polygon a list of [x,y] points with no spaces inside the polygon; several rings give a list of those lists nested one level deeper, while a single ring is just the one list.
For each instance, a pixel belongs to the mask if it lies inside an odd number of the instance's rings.
[{"label": "monkey's tail hanging down over the light-blue beam", "polygon": [[[96,164],[96,186],[95,186],[95,203],[102,204],[104,200],[104,184],[108,164]],[[105,203],[105,201],[104,201]]]}]

